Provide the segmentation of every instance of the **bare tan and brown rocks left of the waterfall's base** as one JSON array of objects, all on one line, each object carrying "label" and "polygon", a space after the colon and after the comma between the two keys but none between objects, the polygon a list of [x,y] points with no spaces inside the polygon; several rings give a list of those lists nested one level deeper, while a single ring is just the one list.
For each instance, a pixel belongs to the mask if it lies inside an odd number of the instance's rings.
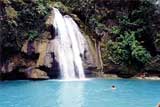
[{"label": "bare tan and brown rocks left of the waterfall's base", "polygon": [[3,64],[2,79],[48,79],[47,73],[39,69],[44,65],[46,44],[47,41],[26,41],[22,51]]}]

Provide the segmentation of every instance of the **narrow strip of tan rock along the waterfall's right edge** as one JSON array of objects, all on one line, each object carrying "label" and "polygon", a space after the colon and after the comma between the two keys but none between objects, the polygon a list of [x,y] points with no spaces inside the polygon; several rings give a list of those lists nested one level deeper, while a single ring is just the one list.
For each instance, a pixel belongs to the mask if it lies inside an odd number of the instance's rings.
[{"label": "narrow strip of tan rock along the waterfall's right edge", "polygon": [[99,59],[98,59],[98,54],[96,52],[96,47],[95,47],[95,40],[93,40],[91,35],[92,32],[89,31],[89,28],[78,18],[77,15],[71,14],[70,15],[76,23],[79,25],[82,34],[84,35],[84,38],[87,41],[87,53],[85,54],[85,57],[87,59],[83,60],[83,67],[85,69],[86,74],[92,74],[95,70],[100,68],[99,64]]}]

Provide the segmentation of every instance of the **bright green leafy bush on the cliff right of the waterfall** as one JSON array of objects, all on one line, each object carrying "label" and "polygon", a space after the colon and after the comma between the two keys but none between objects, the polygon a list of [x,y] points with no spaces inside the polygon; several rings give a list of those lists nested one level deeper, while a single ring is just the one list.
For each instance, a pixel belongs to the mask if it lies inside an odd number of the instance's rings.
[{"label": "bright green leafy bush on the cliff right of the waterfall", "polygon": [[114,42],[108,42],[108,56],[115,64],[143,66],[150,61],[150,53],[136,40],[135,32],[124,32]]}]

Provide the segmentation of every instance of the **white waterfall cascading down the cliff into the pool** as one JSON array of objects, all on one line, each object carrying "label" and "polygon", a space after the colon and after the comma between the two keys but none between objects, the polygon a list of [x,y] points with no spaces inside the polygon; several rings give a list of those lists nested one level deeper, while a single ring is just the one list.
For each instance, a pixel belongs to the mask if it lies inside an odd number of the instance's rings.
[{"label": "white waterfall cascading down the cliff into the pool", "polygon": [[63,79],[84,79],[82,56],[85,53],[86,41],[77,24],[70,16],[62,16],[53,8],[53,26],[55,28],[55,54]]}]

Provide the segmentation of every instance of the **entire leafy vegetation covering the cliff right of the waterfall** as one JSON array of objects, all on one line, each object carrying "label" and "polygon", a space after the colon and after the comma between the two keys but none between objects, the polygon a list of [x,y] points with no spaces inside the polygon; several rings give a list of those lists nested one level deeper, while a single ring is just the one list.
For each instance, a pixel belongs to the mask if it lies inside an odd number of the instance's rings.
[{"label": "entire leafy vegetation covering the cliff right of the waterfall", "polygon": [[160,14],[150,1],[62,1],[89,26],[95,41],[101,42],[104,64],[140,71],[158,54]]}]

